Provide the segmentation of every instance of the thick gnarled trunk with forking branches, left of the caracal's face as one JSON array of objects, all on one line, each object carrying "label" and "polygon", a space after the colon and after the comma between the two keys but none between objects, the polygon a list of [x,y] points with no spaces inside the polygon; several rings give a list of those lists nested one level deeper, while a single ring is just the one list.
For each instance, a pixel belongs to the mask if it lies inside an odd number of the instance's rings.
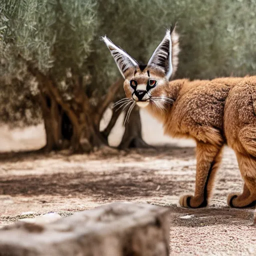
[{"label": "thick gnarled trunk with forking branches, left of the caracal's face", "polygon": [[[46,132],[46,145],[42,149],[50,151],[70,148],[72,152],[89,152],[105,144],[105,139],[99,132],[99,121],[104,109],[112,101],[112,91],[109,90],[105,95],[103,104],[99,103],[94,108],[82,89],[82,76],[72,75],[69,82],[74,85],[74,97],[67,102],[59,92],[54,77],[43,74],[32,62],[22,56],[20,58],[26,62],[27,70],[38,81]],[[110,86],[114,94],[119,83],[120,80],[117,80]]]}]

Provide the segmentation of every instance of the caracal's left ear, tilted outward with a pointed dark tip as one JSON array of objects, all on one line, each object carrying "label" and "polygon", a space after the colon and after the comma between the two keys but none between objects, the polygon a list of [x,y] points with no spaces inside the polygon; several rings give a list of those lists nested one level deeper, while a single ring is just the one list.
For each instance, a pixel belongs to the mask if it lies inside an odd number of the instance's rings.
[{"label": "caracal's left ear, tilted outward with a pointed dark tip", "polygon": [[130,67],[138,67],[137,61],[133,59],[129,54],[127,54],[123,49],[119,48],[114,43],[112,43],[106,36],[101,37],[101,39],[105,42],[106,46],[110,50],[120,73],[125,79],[124,73]]}]

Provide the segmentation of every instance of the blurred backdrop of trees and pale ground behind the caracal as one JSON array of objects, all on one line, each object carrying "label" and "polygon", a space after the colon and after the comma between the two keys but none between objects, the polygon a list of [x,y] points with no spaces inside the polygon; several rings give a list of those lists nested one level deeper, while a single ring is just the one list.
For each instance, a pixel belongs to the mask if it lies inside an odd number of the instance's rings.
[{"label": "blurred backdrop of trees and pale ground behind the caracal", "polygon": [[165,137],[145,111],[112,112],[122,78],[99,37],[146,63],[177,22],[175,78],[255,74],[256,0],[0,0],[0,151],[90,152]]}]

